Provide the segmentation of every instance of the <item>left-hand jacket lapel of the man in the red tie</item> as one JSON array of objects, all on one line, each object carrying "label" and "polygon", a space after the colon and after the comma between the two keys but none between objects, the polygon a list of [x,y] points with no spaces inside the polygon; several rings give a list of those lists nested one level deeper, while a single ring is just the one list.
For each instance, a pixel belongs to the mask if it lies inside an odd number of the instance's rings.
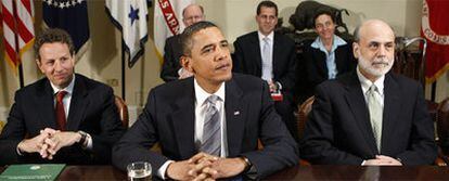
[{"label": "left-hand jacket lapel of the man in the red tie", "polygon": [[36,109],[39,113],[43,127],[57,129],[53,89],[51,88],[48,79],[41,85],[41,87],[37,88],[36,95]]}]

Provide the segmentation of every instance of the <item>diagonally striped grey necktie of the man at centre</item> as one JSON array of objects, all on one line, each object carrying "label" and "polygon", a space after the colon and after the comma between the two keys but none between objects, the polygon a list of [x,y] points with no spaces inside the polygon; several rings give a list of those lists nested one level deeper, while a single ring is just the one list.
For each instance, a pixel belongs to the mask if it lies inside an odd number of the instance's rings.
[{"label": "diagonally striped grey necktie of the man at centre", "polygon": [[206,100],[203,142],[201,144],[202,152],[216,156],[220,156],[221,153],[220,114],[216,107],[218,99],[217,95],[210,95]]}]

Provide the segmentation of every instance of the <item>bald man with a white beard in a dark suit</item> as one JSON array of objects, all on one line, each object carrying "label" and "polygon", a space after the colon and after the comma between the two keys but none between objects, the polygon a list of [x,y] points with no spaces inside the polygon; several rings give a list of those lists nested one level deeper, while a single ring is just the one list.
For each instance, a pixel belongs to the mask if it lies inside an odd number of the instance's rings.
[{"label": "bald man with a white beard in a dark suit", "polygon": [[395,35],[371,20],[356,28],[357,70],[317,87],[302,156],[312,164],[424,165],[437,154],[419,82],[389,73]]}]

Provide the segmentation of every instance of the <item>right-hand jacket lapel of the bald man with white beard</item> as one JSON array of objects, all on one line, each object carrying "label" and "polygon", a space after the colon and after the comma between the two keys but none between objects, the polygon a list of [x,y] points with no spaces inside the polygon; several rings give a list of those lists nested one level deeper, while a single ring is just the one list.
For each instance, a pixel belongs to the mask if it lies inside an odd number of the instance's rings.
[{"label": "right-hand jacket lapel of the bald man with white beard", "polygon": [[392,77],[392,73],[385,75],[384,80],[384,115],[382,119],[382,151],[392,147],[385,145],[386,140],[395,139],[390,138],[390,133],[394,132],[395,124],[397,122],[397,115],[400,112],[400,88]]}]

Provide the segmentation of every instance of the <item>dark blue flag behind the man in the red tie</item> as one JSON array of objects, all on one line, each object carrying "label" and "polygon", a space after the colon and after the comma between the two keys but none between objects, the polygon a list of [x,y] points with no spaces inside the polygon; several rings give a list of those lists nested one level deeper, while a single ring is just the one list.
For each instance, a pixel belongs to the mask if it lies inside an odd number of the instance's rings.
[{"label": "dark blue flag behind the man in the red tie", "polygon": [[72,36],[77,54],[84,52],[90,36],[86,0],[43,0],[42,14],[48,27],[64,29]]}]

